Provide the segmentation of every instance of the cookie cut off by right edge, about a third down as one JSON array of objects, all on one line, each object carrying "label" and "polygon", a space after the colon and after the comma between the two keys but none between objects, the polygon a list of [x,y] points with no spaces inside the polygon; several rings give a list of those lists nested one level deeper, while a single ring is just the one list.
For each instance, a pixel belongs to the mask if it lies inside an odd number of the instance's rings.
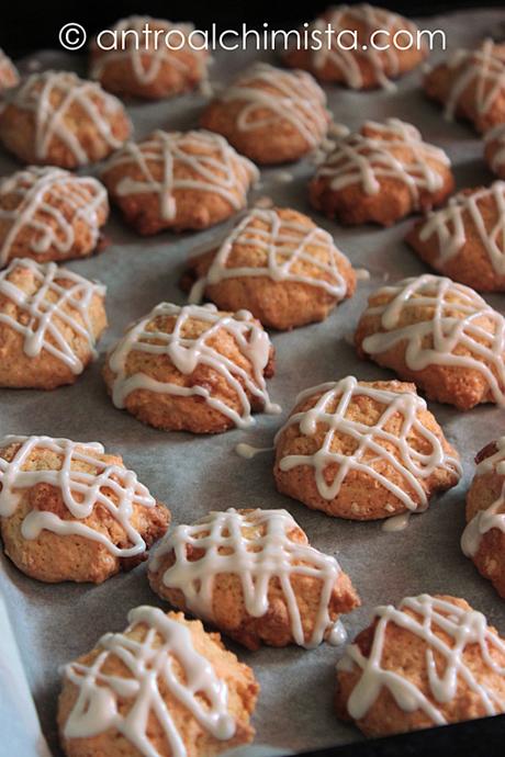
[{"label": "cookie cut off by right edge, about a third down", "polygon": [[406,241],[439,273],[480,292],[505,291],[505,182],[463,190]]}]

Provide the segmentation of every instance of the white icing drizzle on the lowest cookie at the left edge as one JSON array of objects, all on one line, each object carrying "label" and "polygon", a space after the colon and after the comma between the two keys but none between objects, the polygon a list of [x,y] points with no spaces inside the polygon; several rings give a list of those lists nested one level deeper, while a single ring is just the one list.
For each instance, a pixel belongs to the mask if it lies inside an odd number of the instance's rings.
[{"label": "white icing drizzle on the lowest cookie at the left edge", "polygon": [[[0,448],[19,444],[9,462],[0,456],[0,517],[14,515],[23,489],[38,484],[48,484],[59,489],[71,520],[63,519],[54,512],[31,510],[21,526],[24,539],[37,539],[38,534],[52,531],[63,536],[83,536],[103,544],[116,557],[132,557],[146,551],[146,543],[132,523],[134,508],[156,507],[156,500],[141,484],[136,474],[122,465],[105,463],[99,455],[104,449],[98,442],[78,443],[69,439],[50,437],[7,436],[0,440]],[[59,468],[37,467],[24,470],[24,465],[35,451],[50,452],[58,456]],[[81,470],[91,466],[91,472]],[[120,547],[106,535],[82,521],[89,518],[97,505],[105,508],[123,529],[130,546]]]}]

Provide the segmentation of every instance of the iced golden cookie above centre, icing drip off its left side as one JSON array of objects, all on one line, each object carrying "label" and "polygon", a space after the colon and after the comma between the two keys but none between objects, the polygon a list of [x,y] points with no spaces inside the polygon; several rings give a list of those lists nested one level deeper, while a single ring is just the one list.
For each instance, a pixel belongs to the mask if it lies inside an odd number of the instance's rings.
[{"label": "iced golden cookie above centre, icing drip off its left side", "polygon": [[330,234],[291,208],[255,208],[221,247],[189,262],[190,302],[247,309],[279,330],[324,320],[352,296],[356,273]]}]

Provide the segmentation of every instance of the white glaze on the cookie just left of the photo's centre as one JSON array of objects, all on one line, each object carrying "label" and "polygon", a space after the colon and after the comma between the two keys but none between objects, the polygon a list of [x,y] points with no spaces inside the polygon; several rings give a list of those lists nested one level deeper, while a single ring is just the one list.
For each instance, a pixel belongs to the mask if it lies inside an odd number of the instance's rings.
[{"label": "white glaze on the cookie just left of the photo's centre", "polygon": [[[197,328],[194,334],[193,328]],[[223,351],[220,350],[222,336],[228,344]],[[231,352],[229,340],[238,350],[237,357]],[[254,406],[260,406],[265,413],[280,411],[270,402],[265,380],[271,351],[267,332],[246,310],[228,314],[220,313],[213,305],[180,307],[160,303],[128,328],[113,347],[108,355],[106,380],[119,408],[127,407],[131,395],[138,392],[191,397],[216,410],[226,428],[229,425],[247,428],[255,422]],[[150,371],[148,357],[158,358],[159,366],[168,363],[178,375],[172,381],[164,381],[161,376],[156,377],[156,373],[160,375],[159,370],[150,375],[144,372],[142,363],[139,370],[132,372],[130,359],[135,354],[145,355],[146,370]],[[227,397],[215,394],[218,378],[226,385]],[[236,407],[229,402],[229,395],[234,396]]]}]

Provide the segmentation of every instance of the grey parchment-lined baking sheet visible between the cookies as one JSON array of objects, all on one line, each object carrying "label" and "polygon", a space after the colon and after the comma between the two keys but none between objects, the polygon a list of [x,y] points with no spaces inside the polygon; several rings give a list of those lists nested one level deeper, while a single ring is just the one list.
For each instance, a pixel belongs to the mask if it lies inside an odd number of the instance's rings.
[{"label": "grey parchment-lined baking sheet visible between the cookies", "polygon": [[[424,19],[420,23],[425,27],[445,29],[450,49],[461,44],[475,44],[484,35],[500,36],[502,33],[503,36],[505,11],[461,12]],[[216,55],[212,79],[225,79],[258,57],[272,59],[272,56],[254,52]],[[433,56],[437,57],[440,54]],[[37,65],[79,69],[81,65],[79,58],[59,54],[41,54],[27,64],[31,69]],[[420,71],[413,72],[392,93],[326,88],[329,108],[337,122],[351,128],[366,117],[397,116],[411,121],[428,142],[449,152],[458,189],[490,182],[492,176],[482,160],[481,140],[470,126],[448,124],[442,120],[440,110],[423,97],[420,76]],[[131,104],[128,111],[136,136],[141,137],[155,127],[195,126],[203,104],[201,95],[191,94],[171,102]],[[16,168],[13,160],[0,155],[2,176]],[[361,595],[362,607],[345,619],[350,637],[368,624],[375,605],[396,602],[406,595],[424,591],[465,597],[505,633],[505,605],[479,576],[471,561],[463,557],[459,546],[464,523],[463,498],[473,473],[472,459],[484,443],[503,434],[503,410],[489,406],[460,414],[429,404],[462,456],[464,476],[457,488],[436,499],[427,512],[413,517],[408,528],[397,533],[382,531],[380,522],[349,522],[312,512],[276,492],[271,454],[245,461],[234,452],[238,442],[268,447],[296,394],[307,386],[349,373],[363,380],[391,378],[390,372],[358,360],[350,346],[352,328],[371,290],[386,278],[394,280],[426,270],[402,241],[412,219],[386,230],[372,226],[344,229],[308,206],[306,181],[314,170],[311,162],[305,160],[288,170],[293,177],[289,183],[276,180],[277,174],[285,173],[285,167],[262,171],[262,183],[251,194],[251,202],[270,195],[280,205],[310,213],[332,231],[355,267],[370,271],[371,279],[360,282],[356,296],[325,323],[291,334],[272,335],[277,374],[269,388],[272,399],[283,406],[282,417],[257,416],[257,427],[247,432],[235,430],[216,437],[193,437],[148,428],[112,406],[100,375],[103,353],[130,321],[146,314],[158,302],[183,303],[178,279],[188,256],[211,248],[229,227],[225,224],[201,234],[161,234],[141,239],[113,213],[105,228],[110,238],[106,250],[87,261],[69,264],[72,270],[108,284],[110,328],[100,343],[101,359],[72,387],[52,393],[0,391],[0,434],[45,433],[103,442],[109,450],[124,456],[155,497],[168,504],[173,523],[192,522],[210,509],[287,508],[305,529],[314,546],[338,557]],[[504,310],[503,295],[487,300]],[[145,566],[101,586],[52,586],[25,577],[1,555],[0,589],[42,728],[56,757],[60,755],[55,727],[58,666],[90,649],[102,633],[122,630],[131,608],[143,603],[167,606],[149,589]],[[2,634],[1,639],[3,657],[10,652],[7,635]],[[332,709],[335,663],[341,649],[322,645],[311,652],[291,647],[249,653],[232,643],[228,646],[254,667],[261,685],[255,715],[256,745],[245,753],[255,757],[285,754],[361,738],[352,726],[340,723]],[[12,688],[15,677],[9,667],[0,666],[2,692]],[[33,728],[33,721],[31,727],[24,726],[23,718],[30,716],[30,707],[29,703],[22,708],[15,723],[16,741],[13,737],[11,741],[9,734],[13,733],[13,713],[18,705],[2,693],[0,732],[2,743],[9,743],[9,754],[43,755],[44,746]]]}]

